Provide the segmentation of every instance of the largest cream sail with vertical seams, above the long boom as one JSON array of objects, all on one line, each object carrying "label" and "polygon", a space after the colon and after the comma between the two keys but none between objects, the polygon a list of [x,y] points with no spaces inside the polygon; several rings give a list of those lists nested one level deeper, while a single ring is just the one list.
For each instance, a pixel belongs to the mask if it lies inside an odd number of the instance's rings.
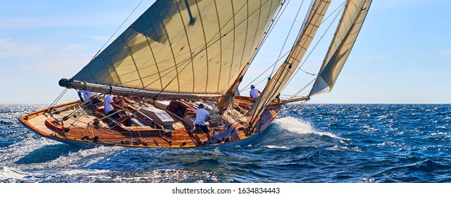
[{"label": "largest cream sail with vertical seams, above the long boom", "polygon": [[157,0],[71,80],[182,94],[224,94],[282,0]]}]

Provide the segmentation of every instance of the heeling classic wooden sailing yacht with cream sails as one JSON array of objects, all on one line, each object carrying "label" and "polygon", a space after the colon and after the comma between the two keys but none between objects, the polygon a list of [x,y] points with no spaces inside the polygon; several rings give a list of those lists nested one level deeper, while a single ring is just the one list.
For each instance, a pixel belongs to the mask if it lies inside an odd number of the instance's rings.
[{"label": "heeling classic wooden sailing yacht with cream sails", "polygon": [[[305,102],[333,88],[371,0],[348,0],[342,6],[309,94],[280,98],[316,37],[330,0],[308,5],[295,42],[261,95],[255,101],[237,95],[286,4],[157,0],[82,70],[58,82],[63,93],[76,89],[97,96],[84,98],[86,102],[54,102],[18,119],[41,136],[75,146],[216,148],[248,143],[286,103]],[[113,100],[113,113],[106,113],[105,100]],[[208,135],[194,124],[199,106],[209,113]]]}]

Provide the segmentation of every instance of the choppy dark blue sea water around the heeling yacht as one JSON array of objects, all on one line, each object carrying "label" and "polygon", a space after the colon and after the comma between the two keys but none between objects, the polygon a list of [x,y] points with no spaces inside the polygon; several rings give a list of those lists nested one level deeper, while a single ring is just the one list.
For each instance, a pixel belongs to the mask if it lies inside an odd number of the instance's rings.
[{"label": "choppy dark blue sea water around the heeling yacht", "polygon": [[0,104],[0,182],[451,182],[451,105],[307,104],[283,108],[251,144],[208,151],[79,148]]}]

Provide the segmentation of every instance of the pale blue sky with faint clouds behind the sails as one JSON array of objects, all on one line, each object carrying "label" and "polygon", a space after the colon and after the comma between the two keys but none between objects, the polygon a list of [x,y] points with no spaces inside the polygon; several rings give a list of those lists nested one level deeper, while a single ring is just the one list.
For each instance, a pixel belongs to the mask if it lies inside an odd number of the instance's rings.
[{"label": "pale blue sky with faint clouds behind the sails", "polygon": [[[152,2],[144,0],[125,27]],[[341,2],[333,1],[330,11]],[[54,101],[63,91],[58,80],[85,66],[139,3],[0,0],[0,103]],[[311,103],[451,103],[450,7],[451,1],[439,0],[373,1],[334,89],[315,96]],[[290,6],[286,14],[296,9]],[[291,23],[281,20],[278,26]],[[243,85],[274,62],[280,52],[276,44],[285,37],[283,32],[271,34],[269,47],[261,50]],[[303,69],[318,72],[313,66],[321,65],[325,52],[312,53]],[[299,78],[308,77],[299,74]],[[303,86],[295,83],[284,93]],[[75,90],[69,90],[62,101],[74,99]]]}]

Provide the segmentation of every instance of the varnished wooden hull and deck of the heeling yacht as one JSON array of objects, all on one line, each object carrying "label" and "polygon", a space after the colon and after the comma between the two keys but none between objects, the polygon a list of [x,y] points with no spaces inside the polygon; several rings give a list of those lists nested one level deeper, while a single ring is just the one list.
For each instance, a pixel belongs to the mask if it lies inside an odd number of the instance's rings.
[{"label": "varnished wooden hull and deck of the heeling yacht", "polygon": [[[158,101],[157,101],[158,102]],[[280,106],[271,104],[261,115],[259,122],[249,127],[251,116],[247,115],[252,103],[248,97],[236,96],[233,107],[223,114],[210,110],[209,122],[211,143],[201,131],[194,131],[193,106],[200,101],[161,101],[148,103],[128,98],[125,106],[115,106],[121,117],[115,119],[79,101],[39,110],[19,117],[18,120],[40,136],[65,144],[82,147],[124,146],[135,148],[228,148],[248,144],[257,138],[276,118]],[[209,103],[211,104],[211,103]],[[117,108],[116,108],[117,107]],[[171,122],[162,122],[161,113],[171,117]],[[150,113],[150,114],[149,114]],[[127,124],[126,122],[135,122]],[[135,124],[134,124],[135,123]],[[251,128],[251,129],[249,129]]]}]

